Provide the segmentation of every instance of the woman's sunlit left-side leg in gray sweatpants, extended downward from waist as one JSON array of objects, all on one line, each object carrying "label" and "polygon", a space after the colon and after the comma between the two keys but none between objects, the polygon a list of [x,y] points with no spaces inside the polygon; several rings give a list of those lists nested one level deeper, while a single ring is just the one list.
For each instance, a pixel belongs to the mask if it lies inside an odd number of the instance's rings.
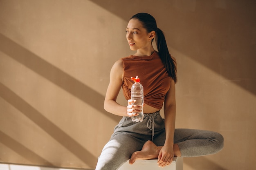
[{"label": "woman's sunlit left-side leg in gray sweatpants, extended downward from waist", "polygon": [[[153,117],[157,115],[159,113],[152,114]],[[110,141],[104,146],[96,170],[116,170],[130,159],[133,152],[141,150],[144,143],[151,139],[152,132],[147,126],[150,117],[145,115],[144,120],[138,123],[133,122],[130,117],[123,117],[115,127]],[[163,120],[160,124],[164,129]],[[164,131],[161,128],[155,127],[156,134]]]}]

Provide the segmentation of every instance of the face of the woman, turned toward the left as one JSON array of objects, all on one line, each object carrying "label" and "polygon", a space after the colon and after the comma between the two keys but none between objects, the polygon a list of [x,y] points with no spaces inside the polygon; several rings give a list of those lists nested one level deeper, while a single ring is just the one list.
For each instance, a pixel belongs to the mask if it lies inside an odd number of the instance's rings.
[{"label": "face of the woman, turned toward the left", "polygon": [[151,33],[147,32],[138,19],[133,18],[128,22],[126,28],[126,39],[131,50],[135,51],[138,49],[150,48],[151,40],[153,38]]}]

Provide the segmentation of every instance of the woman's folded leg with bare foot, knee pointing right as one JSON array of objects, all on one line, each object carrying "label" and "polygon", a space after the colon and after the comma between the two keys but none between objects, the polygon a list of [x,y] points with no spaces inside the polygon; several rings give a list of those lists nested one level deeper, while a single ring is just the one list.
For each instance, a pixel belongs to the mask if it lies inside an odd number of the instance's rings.
[{"label": "woman's folded leg with bare foot, knee pointing right", "polygon": [[[133,163],[137,159],[148,159],[145,155],[154,155],[150,159],[156,159],[160,149],[164,145],[165,132],[154,138],[154,143],[147,141],[143,148],[151,148],[134,152],[130,159]],[[175,129],[174,133],[175,156],[181,157],[198,157],[211,155],[219,152],[223,148],[224,138],[217,132],[195,129]],[[180,155],[181,154],[181,155]]]}]

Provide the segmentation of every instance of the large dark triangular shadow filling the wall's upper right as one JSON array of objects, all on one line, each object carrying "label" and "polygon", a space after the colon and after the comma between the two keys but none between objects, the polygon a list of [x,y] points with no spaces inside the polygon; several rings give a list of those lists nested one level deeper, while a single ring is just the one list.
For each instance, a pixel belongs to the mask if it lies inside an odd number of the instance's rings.
[{"label": "large dark triangular shadow filling the wall's upper right", "polygon": [[[161,25],[159,28],[166,33],[168,45],[225,77],[227,81],[256,95],[256,67],[254,66],[256,58],[252,56],[256,53],[254,48],[256,22],[255,17],[252,17],[256,16],[255,1],[241,2],[239,10],[232,9],[232,1],[226,1],[227,7],[231,9],[216,9],[213,15],[206,13],[204,7],[206,2],[195,0],[161,2],[140,0],[136,3],[124,3],[120,0],[90,1],[126,20],[127,23],[132,15],[139,12],[150,13],[157,21],[162,19],[162,22],[157,24]],[[214,8],[214,3],[212,6]],[[228,10],[234,11],[227,12]],[[217,24],[216,20],[221,24]],[[213,27],[204,27],[203,23]],[[233,35],[230,35],[230,29],[238,25],[248,26],[247,33],[245,34],[245,30],[239,28],[234,29]],[[234,33],[236,33],[235,36]],[[200,37],[200,35],[204,36]],[[245,36],[247,36],[246,40]],[[227,51],[230,54],[227,54]]]}]

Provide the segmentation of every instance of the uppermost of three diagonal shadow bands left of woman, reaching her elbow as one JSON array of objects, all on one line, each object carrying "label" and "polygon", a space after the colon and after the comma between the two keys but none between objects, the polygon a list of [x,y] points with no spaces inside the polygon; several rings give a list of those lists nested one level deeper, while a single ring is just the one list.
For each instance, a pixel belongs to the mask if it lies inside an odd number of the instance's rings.
[{"label": "uppermost of three diagonal shadow bands left of woman, reaching her elbow", "polygon": [[39,75],[45,77],[57,86],[63,88],[68,93],[81,99],[96,110],[99,110],[100,113],[105,114],[116,122],[120,120],[119,116],[110,114],[104,110],[103,104],[105,97],[103,95],[94,91],[92,88],[86,86],[49,62],[41,59],[31,51],[25,49],[1,33],[0,51],[7,54],[9,57],[12,57],[17,62],[27,66]]}]

